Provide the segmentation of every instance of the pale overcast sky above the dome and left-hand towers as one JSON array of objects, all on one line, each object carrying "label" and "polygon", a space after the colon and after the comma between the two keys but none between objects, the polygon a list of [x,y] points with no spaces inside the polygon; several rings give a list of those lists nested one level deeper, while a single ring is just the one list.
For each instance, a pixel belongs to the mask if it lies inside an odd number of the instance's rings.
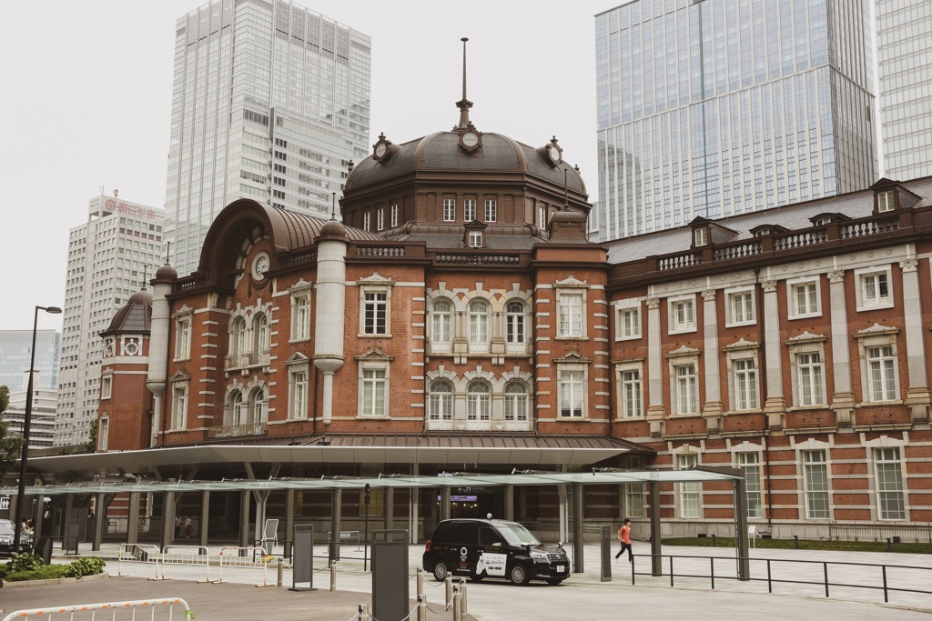
[{"label": "pale overcast sky above the dome and left-hand towers", "polygon": [[[68,230],[103,192],[164,207],[175,22],[198,0],[8,2],[0,330],[63,306]],[[462,44],[471,119],[540,145],[556,136],[596,200],[596,13],[622,0],[305,0],[372,37],[370,143],[459,120]],[[62,329],[40,313],[39,329]]]}]

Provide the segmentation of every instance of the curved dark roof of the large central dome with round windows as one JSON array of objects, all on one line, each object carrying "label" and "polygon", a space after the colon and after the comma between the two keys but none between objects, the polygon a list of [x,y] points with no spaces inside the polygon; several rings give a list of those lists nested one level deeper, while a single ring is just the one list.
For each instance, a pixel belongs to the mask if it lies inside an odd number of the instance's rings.
[{"label": "curved dark roof of the large central dome with round windows", "polygon": [[[555,143],[555,142],[554,142]],[[459,147],[459,132],[440,131],[398,145],[389,158],[365,157],[346,182],[346,191],[385,182],[392,177],[418,171],[458,170],[463,172],[513,172],[529,174],[570,192],[585,194],[578,170],[565,162],[553,166],[542,149],[496,133],[483,133],[482,146],[473,153]]]}]

